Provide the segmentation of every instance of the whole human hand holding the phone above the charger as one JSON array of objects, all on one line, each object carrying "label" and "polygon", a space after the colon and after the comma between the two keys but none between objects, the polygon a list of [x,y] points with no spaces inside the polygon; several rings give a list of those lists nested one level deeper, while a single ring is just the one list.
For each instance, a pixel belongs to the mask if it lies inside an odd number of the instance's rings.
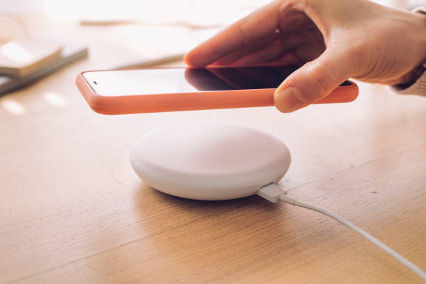
[{"label": "whole human hand holding the phone above the charger", "polygon": [[426,16],[367,0],[278,0],[240,19],[185,56],[190,66],[302,65],[276,89],[291,112],[353,77],[407,84],[424,70]]}]

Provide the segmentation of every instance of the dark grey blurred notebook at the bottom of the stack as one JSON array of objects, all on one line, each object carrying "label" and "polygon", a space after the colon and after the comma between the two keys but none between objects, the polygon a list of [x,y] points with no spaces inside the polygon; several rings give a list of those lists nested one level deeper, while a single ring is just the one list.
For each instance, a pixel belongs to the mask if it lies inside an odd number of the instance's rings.
[{"label": "dark grey blurred notebook at the bottom of the stack", "polygon": [[31,74],[27,74],[24,77],[0,76],[0,95],[27,86],[34,81],[38,81],[56,70],[63,68],[65,65],[86,57],[87,54],[87,47],[65,46],[57,58]]}]

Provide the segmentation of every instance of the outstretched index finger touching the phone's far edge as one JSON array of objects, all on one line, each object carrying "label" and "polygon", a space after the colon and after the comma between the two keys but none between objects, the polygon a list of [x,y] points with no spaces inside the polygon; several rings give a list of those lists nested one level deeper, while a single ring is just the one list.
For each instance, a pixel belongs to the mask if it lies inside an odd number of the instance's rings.
[{"label": "outstretched index finger touching the phone's far edge", "polygon": [[269,3],[201,43],[185,56],[185,63],[189,66],[208,65],[274,33],[278,26],[278,4],[278,1]]}]

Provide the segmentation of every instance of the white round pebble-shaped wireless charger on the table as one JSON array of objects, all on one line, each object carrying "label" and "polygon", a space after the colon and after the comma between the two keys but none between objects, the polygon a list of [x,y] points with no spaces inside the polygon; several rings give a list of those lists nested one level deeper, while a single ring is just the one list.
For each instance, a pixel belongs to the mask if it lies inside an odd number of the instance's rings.
[{"label": "white round pebble-shaped wireless charger on the table", "polygon": [[225,200],[278,182],[290,166],[290,152],[279,139],[251,127],[191,123],[143,136],[130,163],[145,184],[166,194]]}]

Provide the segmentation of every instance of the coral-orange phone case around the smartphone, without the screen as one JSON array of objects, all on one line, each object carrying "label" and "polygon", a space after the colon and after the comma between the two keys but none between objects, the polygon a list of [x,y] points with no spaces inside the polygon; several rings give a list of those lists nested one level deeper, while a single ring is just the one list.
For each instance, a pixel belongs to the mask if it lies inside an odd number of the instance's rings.
[{"label": "coral-orange phone case around the smartphone, without the screen", "polygon": [[[147,69],[147,68],[132,68]],[[88,71],[86,71],[88,72]],[[194,111],[200,109],[234,109],[274,106],[275,88],[249,90],[214,90],[194,93],[154,95],[103,96],[95,93],[81,72],[76,79],[84,99],[93,111],[102,114],[152,113],[163,111]],[[340,86],[316,104],[352,102],[358,97],[358,86],[352,81]]]}]

